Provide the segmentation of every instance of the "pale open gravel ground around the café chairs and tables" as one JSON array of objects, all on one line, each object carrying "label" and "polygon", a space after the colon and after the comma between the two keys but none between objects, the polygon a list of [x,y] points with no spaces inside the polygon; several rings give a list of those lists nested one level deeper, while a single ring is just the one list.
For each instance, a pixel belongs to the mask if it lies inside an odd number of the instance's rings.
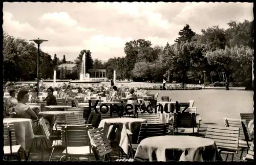
[{"label": "pale open gravel ground around the caf\u00e9 chairs and tables", "polygon": [[[224,126],[223,117],[239,119],[239,113],[251,113],[253,111],[253,91],[243,90],[169,90],[169,91],[151,91],[152,94],[159,92],[158,101],[162,96],[169,96],[172,101],[187,102],[194,100],[194,106],[197,107],[198,113],[202,117],[202,125],[200,127],[200,136],[205,136],[207,125]],[[118,158],[118,143],[113,143],[112,160]],[[57,149],[52,156],[53,161],[57,161],[62,156],[64,149]],[[41,150],[33,150],[29,160],[41,160]],[[234,155],[234,161],[240,160],[240,154]],[[246,156],[246,152],[243,153]],[[225,160],[226,155],[222,158]],[[49,160],[49,153],[44,151],[44,161]],[[72,157],[73,161],[77,161],[77,157]],[[95,160],[94,156],[80,157],[79,160],[89,161]],[[229,155],[227,161],[231,161]]]}]

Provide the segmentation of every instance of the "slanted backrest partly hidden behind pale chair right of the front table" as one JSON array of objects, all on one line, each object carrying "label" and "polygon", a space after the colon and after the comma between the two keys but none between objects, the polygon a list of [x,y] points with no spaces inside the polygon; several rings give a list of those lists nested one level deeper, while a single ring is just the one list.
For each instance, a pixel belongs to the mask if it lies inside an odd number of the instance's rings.
[{"label": "slanted backrest partly hidden behind pale chair right of the front table", "polygon": [[248,132],[248,125],[246,124],[245,120],[239,120],[239,119],[230,119],[223,117],[223,120],[225,122],[226,127],[237,127],[240,129],[239,133],[239,139],[240,140],[250,140],[250,132]]}]

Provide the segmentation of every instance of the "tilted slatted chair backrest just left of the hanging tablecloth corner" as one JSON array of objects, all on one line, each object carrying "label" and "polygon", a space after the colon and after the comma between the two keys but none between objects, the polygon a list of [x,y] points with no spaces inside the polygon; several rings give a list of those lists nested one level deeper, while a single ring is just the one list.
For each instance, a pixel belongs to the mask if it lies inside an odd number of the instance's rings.
[{"label": "tilted slatted chair backrest just left of the hanging tablecloth corner", "polygon": [[103,156],[112,151],[112,147],[110,146],[109,140],[106,137],[102,127],[91,129],[88,132],[91,142],[94,144],[93,146],[97,150],[97,154],[99,156]]}]

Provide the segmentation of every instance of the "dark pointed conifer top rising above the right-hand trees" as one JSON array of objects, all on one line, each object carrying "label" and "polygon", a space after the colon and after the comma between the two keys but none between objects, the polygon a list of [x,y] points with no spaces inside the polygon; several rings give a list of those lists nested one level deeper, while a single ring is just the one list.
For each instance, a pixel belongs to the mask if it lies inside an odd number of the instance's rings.
[{"label": "dark pointed conifer top rising above the right-hand trees", "polygon": [[186,25],[180,32],[178,33],[180,37],[178,37],[175,42],[180,43],[180,42],[190,42],[192,38],[196,35],[195,32],[193,32],[189,25]]}]

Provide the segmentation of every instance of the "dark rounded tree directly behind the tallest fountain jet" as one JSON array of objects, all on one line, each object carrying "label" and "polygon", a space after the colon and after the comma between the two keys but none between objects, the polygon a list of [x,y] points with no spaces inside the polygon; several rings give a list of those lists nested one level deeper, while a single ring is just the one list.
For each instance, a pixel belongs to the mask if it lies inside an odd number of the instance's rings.
[{"label": "dark rounded tree directly behind the tallest fountain jet", "polygon": [[[82,63],[82,56],[83,54],[86,56],[86,73],[88,73],[89,69],[93,68],[93,59],[91,56],[91,51],[90,50],[82,50],[78,57],[75,59],[75,64],[76,64],[76,72],[80,74],[80,69],[81,69],[81,63]],[[80,76],[80,75],[78,75]]]}]

